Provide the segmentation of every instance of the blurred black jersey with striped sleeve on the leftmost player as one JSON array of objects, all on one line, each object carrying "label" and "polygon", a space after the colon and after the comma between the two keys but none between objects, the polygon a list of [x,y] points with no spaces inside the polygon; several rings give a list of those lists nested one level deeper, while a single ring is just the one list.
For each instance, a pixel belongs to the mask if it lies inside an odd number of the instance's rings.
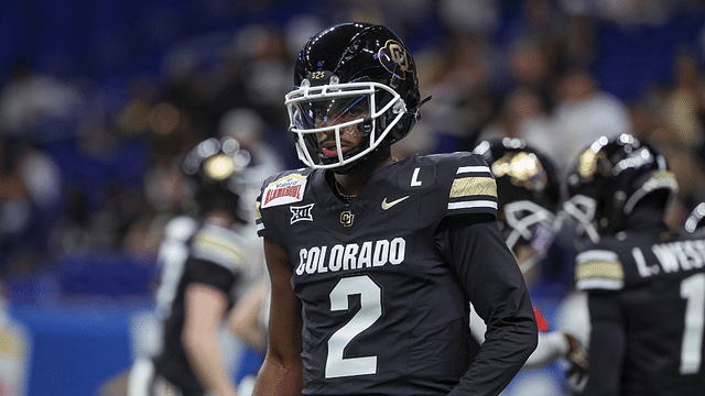
[{"label": "blurred black jersey with striped sleeve on the leftmost player", "polygon": [[232,306],[257,263],[252,256],[256,252],[247,246],[248,240],[240,233],[187,217],[173,219],[165,228],[155,296],[156,314],[162,320],[162,348],[154,358],[154,370],[185,395],[203,394],[203,387],[182,345],[184,292],[191,284],[209,285],[228,295]]}]

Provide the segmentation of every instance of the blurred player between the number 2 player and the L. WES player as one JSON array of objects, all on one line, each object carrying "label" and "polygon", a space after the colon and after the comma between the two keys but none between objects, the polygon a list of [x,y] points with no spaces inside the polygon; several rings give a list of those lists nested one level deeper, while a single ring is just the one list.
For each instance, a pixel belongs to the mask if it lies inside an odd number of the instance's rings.
[{"label": "blurred player between the number 2 player and the L. WES player", "polygon": [[[498,226],[517,257],[535,306],[534,297],[544,293],[542,288],[555,289],[543,282],[549,272],[549,263],[544,260],[547,260],[556,228],[560,227],[561,180],[555,165],[549,156],[520,139],[482,141],[474,152],[482,155],[497,180]],[[554,293],[551,297],[561,299],[564,293]],[[547,319],[541,315],[541,307],[534,309],[540,330],[539,344],[523,370],[545,367],[558,359],[565,359],[570,364],[571,383],[579,384],[588,366],[586,351],[579,339],[586,339],[587,334],[578,337],[573,331],[551,331]],[[481,343],[484,324],[470,321],[470,328]]]}]

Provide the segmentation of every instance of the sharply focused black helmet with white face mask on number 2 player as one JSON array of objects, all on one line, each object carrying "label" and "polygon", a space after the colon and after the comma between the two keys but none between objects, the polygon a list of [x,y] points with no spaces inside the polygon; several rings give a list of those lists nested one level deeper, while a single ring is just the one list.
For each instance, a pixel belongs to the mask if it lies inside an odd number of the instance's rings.
[{"label": "sharply focused black helmet with white face mask on number 2 player", "polygon": [[[344,172],[380,145],[404,138],[421,106],[416,65],[390,29],[345,23],[311,37],[299,55],[294,90],[285,97],[299,158]],[[335,135],[322,146],[316,134]],[[362,142],[346,147],[345,133]]]}]

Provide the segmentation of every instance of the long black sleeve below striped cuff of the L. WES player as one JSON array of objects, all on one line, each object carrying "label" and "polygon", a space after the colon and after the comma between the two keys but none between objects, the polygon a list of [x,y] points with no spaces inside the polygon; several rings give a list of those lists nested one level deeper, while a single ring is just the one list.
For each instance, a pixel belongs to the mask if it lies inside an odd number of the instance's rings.
[{"label": "long black sleeve below striped cuff of the L. WES player", "polygon": [[590,344],[587,384],[581,394],[619,395],[619,378],[627,348],[626,331],[616,293],[590,292]]}]

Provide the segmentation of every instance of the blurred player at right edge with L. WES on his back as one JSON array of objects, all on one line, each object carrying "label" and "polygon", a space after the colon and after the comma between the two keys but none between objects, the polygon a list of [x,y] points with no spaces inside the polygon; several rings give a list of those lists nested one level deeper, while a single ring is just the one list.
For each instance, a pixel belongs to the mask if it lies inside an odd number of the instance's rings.
[{"label": "blurred player at right edge with L. WES on his back", "polygon": [[705,240],[664,223],[677,191],[665,158],[629,134],[600,138],[567,189],[592,239],[575,267],[592,323],[584,395],[703,395]]}]

